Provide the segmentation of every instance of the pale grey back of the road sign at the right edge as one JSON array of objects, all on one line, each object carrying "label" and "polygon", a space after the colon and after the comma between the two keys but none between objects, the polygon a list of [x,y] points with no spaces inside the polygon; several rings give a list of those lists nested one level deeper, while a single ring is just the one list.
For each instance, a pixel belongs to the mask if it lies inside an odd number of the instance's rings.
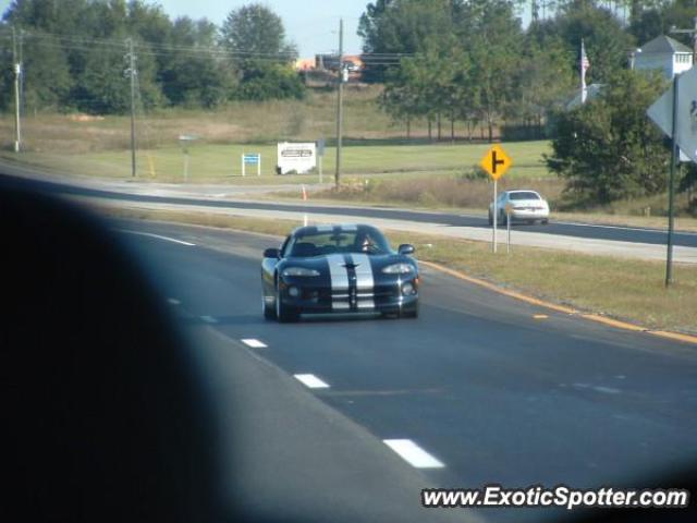
[{"label": "pale grey back of the road sign at the right edge", "polygon": [[[677,145],[681,159],[688,157],[697,162],[697,68],[680,75],[677,80]],[[673,86],[649,107],[648,117],[671,136],[673,131]],[[671,136],[672,137],[672,136]]]}]

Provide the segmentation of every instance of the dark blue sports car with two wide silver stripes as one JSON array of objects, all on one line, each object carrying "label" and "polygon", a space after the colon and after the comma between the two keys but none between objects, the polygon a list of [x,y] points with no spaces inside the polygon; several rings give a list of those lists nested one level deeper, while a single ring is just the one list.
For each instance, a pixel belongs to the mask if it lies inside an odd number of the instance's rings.
[{"label": "dark blue sports car with two wide silver stripes", "polygon": [[261,262],[264,315],[279,321],[301,314],[418,315],[418,265],[414,246],[390,248],[370,226],[295,229]]}]

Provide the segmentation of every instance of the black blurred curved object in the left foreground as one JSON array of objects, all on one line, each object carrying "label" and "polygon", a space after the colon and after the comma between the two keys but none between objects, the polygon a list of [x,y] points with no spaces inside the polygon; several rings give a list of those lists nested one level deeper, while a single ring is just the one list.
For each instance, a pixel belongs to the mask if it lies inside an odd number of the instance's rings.
[{"label": "black blurred curved object in the left foreground", "polygon": [[208,403],[159,300],[95,217],[16,185],[0,177],[0,520],[221,521]]}]

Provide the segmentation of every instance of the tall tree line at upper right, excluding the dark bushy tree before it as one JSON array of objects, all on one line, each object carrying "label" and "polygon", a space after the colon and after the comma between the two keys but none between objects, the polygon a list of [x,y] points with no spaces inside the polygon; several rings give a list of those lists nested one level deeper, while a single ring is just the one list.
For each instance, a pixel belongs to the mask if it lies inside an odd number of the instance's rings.
[{"label": "tall tree line at upper right, excluding the dark bushy tree before it", "polygon": [[[399,66],[371,65],[384,82],[382,108],[406,124],[426,119],[540,125],[579,85],[582,38],[588,83],[626,70],[637,46],[673,25],[693,26],[696,0],[377,0],[359,24],[364,51],[402,56]],[[540,16],[540,5],[546,17]],[[523,9],[531,22],[523,27]],[[692,46],[688,35],[675,36]]]}]

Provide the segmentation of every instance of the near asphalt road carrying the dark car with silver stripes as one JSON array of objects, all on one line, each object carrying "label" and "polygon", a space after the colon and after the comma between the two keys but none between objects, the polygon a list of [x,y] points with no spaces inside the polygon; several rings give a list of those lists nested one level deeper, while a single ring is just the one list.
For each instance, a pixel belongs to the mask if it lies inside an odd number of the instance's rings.
[{"label": "near asphalt road carrying the dark car with silver stripes", "polygon": [[[278,240],[150,222],[112,227],[191,336],[230,441],[231,496],[260,513],[567,518],[549,509],[421,509],[419,491],[648,486],[697,460],[694,345],[432,270],[424,270],[416,320],[279,325],[261,316],[259,282],[261,250]],[[308,388],[295,375],[328,387]],[[390,439],[411,440],[443,466],[413,466]]]}]

